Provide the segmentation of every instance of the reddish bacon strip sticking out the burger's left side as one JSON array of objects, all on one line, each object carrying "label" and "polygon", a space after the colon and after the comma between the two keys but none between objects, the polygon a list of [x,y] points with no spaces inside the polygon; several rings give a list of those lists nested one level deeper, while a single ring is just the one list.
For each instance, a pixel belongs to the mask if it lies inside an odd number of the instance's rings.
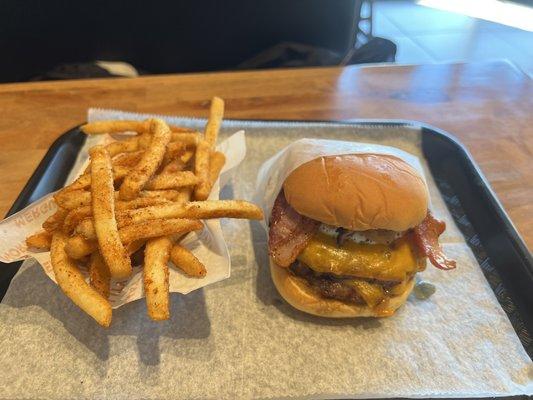
[{"label": "reddish bacon strip sticking out the burger's left side", "polygon": [[319,225],[318,221],[298,214],[281,191],[272,208],[268,233],[269,253],[276,264],[289,267],[307,246]]}]

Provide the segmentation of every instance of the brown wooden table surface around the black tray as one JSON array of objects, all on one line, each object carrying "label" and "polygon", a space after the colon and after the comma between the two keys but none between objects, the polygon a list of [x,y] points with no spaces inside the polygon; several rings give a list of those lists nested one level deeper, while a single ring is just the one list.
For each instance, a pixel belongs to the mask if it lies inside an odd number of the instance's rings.
[{"label": "brown wooden table surface around the black tray", "polygon": [[533,84],[505,62],[311,68],[0,85],[0,213],[89,107],[262,119],[403,118],[455,134],[533,248]]}]

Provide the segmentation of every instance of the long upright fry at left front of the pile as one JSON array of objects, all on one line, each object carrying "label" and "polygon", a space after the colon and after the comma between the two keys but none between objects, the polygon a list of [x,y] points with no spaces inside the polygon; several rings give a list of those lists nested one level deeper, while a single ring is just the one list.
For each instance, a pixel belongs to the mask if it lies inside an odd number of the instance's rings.
[{"label": "long upright fry at left front of the pile", "polygon": [[100,252],[114,278],[131,275],[131,261],[126,253],[115,220],[115,190],[111,159],[102,146],[93,147],[91,156],[91,197],[94,230]]}]

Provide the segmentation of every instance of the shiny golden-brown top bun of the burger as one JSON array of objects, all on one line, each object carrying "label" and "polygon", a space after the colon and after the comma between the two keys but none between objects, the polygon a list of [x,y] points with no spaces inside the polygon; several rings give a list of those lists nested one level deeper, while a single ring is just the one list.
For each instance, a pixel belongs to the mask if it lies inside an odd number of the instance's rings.
[{"label": "shiny golden-brown top bun of the burger", "polygon": [[298,213],[355,231],[404,231],[421,223],[428,209],[420,174],[384,154],[316,158],[292,171],[283,190]]}]

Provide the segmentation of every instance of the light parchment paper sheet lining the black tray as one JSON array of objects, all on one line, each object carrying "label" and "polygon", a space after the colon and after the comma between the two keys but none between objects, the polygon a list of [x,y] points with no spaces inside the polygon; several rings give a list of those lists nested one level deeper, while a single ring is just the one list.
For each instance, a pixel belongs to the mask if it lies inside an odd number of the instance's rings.
[{"label": "light parchment paper sheet lining the black tray", "polygon": [[[106,114],[100,114],[106,115]],[[109,116],[131,118],[111,112]],[[202,127],[203,121],[170,119]],[[392,145],[421,155],[407,127],[225,122],[246,129],[247,157],[221,198],[251,199],[257,171],[301,138]],[[223,220],[229,279],[173,294],[171,320],[143,301],[115,311],[109,330],[81,314],[35,266],[0,304],[0,398],[362,398],[532,394],[532,363],[455,227],[423,158],[432,210],[445,219],[454,271],[389,319],[327,320],[285,303],[270,279],[260,223]],[[117,322],[115,324],[115,322]]]}]

